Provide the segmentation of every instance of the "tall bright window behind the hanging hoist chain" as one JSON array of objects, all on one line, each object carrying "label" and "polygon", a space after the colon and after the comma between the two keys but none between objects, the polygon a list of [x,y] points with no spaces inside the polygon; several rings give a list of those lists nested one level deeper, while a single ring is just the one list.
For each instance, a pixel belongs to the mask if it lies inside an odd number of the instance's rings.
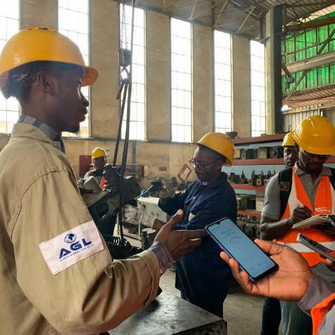
[{"label": "tall bright window behind the hanging hoist chain", "polygon": [[[120,46],[130,49],[132,40],[132,6],[120,6]],[[145,139],[145,44],[144,44],[144,10],[135,8],[134,39],[132,45],[132,96],[130,102],[129,139]],[[129,68],[127,69],[129,70]],[[126,77],[125,71],[121,77]],[[122,78],[121,78],[122,79]],[[122,99],[120,99],[122,101]],[[123,113],[122,138],[125,138],[125,120],[127,118],[127,101]]]}]

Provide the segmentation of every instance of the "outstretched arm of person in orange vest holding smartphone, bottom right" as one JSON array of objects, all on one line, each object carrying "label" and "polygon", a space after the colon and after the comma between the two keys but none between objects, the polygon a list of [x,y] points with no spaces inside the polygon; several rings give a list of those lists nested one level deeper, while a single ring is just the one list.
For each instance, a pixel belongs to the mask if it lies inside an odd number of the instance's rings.
[{"label": "outstretched arm of person in orange vest holding smartphone, bottom right", "polygon": [[[253,296],[298,302],[301,312],[312,315],[313,334],[335,334],[335,285],[312,272],[306,260],[292,248],[259,239],[255,240],[255,244],[279,265],[277,272],[256,284],[251,282],[245,271],[240,270],[236,260],[229,258],[225,252],[220,254],[244,291]],[[286,289],[283,290],[283,287]]]}]

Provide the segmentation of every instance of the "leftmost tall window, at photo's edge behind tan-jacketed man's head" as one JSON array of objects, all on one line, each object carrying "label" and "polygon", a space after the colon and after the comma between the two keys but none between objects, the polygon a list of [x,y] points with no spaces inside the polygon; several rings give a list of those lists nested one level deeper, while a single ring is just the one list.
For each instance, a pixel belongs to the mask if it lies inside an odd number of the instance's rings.
[{"label": "leftmost tall window, at photo's edge behind tan-jacketed man's head", "polygon": [[[18,32],[19,28],[19,0],[0,0],[0,53],[6,41]],[[0,94],[0,133],[8,134],[18,121],[18,101],[13,97],[5,99]]]}]

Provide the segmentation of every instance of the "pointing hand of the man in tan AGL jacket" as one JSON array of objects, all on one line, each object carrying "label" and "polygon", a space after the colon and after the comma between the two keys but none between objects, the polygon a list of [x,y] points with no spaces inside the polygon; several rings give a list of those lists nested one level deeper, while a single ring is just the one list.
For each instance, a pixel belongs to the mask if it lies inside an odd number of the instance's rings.
[{"label": "pointing hand of the man in tan AGL jacket", "polygon": [[173,260],[178,260],[185,253],[191,253],[201,244],[201,237],[206,236],[206,230],[173,230],[182,221],[183,211],[178,210],[171,220],[158,232],[155,241],[162,242],[170,251]]}]

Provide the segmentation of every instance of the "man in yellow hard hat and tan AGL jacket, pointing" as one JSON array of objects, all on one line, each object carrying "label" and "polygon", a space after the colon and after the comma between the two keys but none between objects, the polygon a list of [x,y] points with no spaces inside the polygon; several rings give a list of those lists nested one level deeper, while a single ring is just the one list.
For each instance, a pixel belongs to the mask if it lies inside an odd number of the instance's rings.
[{"label": "man in yellow hard hat and tan AGL jacket, pointing", "polygon": [[113,262],[61,139],[80,129],[89,106],[81,87],[97,77],[74,42],[46,27],[18,32],[0,54],[0,89],[22,111],[0,153],[1,334],[117,327],[156,298],[160,275],[205,234],[176,234],[175,215],[150,251]]}]

